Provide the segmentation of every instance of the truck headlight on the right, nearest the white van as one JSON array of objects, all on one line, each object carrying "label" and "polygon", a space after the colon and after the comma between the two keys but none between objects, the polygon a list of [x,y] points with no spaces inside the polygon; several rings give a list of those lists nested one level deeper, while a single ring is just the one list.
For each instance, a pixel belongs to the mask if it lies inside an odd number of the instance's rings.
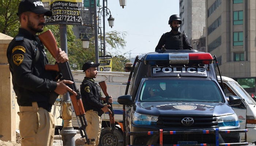
[{"label": "truck headlight on the right, nearest the white van", "polygon": [[236,114],[218,116],[217,117],[218,125],[221,126],[238,126],[239,121]]}]

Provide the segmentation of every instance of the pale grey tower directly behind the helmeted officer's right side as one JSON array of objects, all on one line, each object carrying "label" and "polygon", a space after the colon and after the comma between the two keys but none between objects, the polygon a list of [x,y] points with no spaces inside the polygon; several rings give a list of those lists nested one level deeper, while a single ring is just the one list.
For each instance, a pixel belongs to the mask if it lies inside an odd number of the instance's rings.
[{"label": "pale grey tower directly behind the helmeted officer's right side", "polygon": [[191,44],[203,35],[205,11],[205,0],[180,0],[180,32],[187,35]]}]

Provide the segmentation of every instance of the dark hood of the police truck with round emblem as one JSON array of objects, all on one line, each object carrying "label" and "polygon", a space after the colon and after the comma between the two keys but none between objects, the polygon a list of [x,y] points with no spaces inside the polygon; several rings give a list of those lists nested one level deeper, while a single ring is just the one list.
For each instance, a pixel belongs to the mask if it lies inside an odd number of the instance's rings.
[{"label": "dark hood of the police truck with round emblem", "polygon": [[210,102],[137,102],[136,112],[145,115],[208,115],[222,116],[234,114],[232,108],[225,103]]}]

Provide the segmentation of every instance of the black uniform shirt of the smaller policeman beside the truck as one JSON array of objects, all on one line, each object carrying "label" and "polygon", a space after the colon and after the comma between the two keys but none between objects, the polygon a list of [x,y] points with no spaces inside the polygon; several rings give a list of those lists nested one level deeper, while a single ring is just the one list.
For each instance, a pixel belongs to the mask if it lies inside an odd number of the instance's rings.
[{"label": "black uniform shirt of the smaller policeman beside the truck", "polygon": [[93,78],[84,77],[84,80],[80,86],[80,92],[85,111],[101,111],[101,108],[104,107],[100,100],[101,88],[99,85],[97,85]]}]

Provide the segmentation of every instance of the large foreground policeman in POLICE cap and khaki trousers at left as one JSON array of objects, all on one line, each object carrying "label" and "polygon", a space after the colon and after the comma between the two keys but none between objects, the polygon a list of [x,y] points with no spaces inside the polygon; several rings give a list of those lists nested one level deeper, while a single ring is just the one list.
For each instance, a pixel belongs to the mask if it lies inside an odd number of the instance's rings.
[{"label": "large foreground policeman in POLICE cap and khaki trousers at left", "polygon": [[[20,28],[8,46],[7,58],[19,105],[21,146],[52,146],[52,104],[57,96],[68,91],[77,94],[66,85],[73,84],[72,81],[57,82],[57,72],[44,69],[48,59],[36,34],[43,31],[45,16],[51,16],[52,12],[45,9],[39,0],[22,0],[17,15]],[[56,61],[68,61],[67,54],[60,48],[58,51]]]}]

